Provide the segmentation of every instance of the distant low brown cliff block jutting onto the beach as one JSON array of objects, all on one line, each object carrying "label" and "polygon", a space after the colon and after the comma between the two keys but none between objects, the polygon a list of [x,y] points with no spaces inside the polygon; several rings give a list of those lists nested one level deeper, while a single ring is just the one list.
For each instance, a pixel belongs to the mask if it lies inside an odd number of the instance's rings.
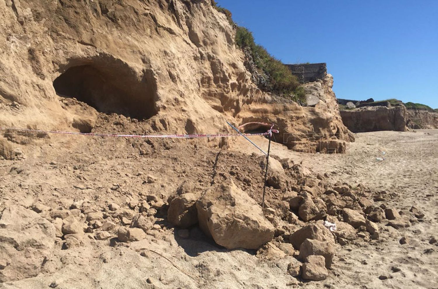
[{"label": "distant low brown cliff block jutting onto the beach", "polygon": [[407,111],[403,105],[360,107],[341,111],[341,116],[344,125],[352,132],[406,131]]}]

